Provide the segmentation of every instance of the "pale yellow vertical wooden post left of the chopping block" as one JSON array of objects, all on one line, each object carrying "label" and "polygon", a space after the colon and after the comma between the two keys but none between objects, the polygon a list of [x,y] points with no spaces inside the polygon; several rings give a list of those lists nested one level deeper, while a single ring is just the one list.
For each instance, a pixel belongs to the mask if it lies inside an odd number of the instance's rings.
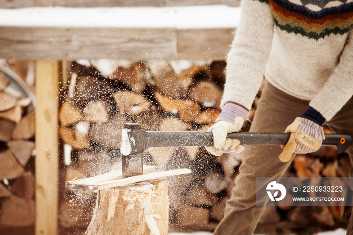
[{"label": "pale yellow vertical wooden post left of the chopping block", "polygon": [[36,235],[58,230],[58,75],[57,62],[36,62]]}]

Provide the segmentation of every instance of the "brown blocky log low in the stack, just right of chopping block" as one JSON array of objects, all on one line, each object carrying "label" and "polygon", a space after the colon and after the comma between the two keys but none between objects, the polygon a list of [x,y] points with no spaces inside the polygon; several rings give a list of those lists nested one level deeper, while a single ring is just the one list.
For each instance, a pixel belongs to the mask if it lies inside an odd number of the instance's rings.
[{"label": "brown blocky log low in the stack, just right of chopping block", "polygon": [[181,226],[207,226],[210,210],[204,207],[185,205],[177,214],[177,224]]}]

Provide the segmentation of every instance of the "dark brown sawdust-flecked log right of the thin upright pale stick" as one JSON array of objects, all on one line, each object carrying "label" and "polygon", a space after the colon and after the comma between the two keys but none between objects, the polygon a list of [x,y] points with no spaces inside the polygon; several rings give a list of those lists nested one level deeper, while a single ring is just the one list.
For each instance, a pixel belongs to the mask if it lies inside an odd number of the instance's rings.
[{"label": "dark brown sawdust-flecked log right of the thin upright pale stick", "polygon": [[105,80],[96,77],[79,77],[75,87],[74,101],[85,105],[92,100],[111,94],[114,89]]}]

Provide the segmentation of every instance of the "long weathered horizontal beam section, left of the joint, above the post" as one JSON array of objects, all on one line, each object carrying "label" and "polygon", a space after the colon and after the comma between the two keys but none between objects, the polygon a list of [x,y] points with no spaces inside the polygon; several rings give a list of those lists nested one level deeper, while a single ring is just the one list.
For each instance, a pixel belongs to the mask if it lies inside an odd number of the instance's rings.
[{"label": "long weathered horizontal beam section, left of the joint, above the post", "polygon": [[20,60],[174,60],[177,44],[170,28],[0,27],[0,35],[0,57]]}]

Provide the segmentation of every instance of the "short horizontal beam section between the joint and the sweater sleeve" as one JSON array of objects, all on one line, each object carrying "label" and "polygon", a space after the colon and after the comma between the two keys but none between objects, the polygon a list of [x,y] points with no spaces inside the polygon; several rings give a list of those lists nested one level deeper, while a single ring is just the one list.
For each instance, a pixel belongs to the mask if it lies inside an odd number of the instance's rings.
[{"label": "short horizontal beam section between the joint and the sweater sleeve", "polygon": [[179,60],[224,60],[234,37],[233,28],[178,30]]}]

